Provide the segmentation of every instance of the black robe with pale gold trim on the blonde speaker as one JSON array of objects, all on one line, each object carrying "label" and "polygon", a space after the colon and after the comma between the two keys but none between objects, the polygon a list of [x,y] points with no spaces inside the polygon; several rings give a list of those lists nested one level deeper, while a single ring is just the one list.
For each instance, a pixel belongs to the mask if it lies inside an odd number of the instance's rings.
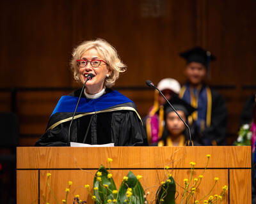
[{"label": "black robe with pale gold trim on the blonde speaker", "polygon": [[[72,92],[69,96],[79,97],[80,92],[81,89]],[[111,89],[106,89],[106,96],[112,92]],[[84,96],[83,98],[84,102],[80,101],[80,103],[94,100],[86,99]],[[99,99],[96,101],[100,101]],[[36,142],[36,146],[68,146],[68,128],[72,115],[72,112],[54,112],[47,131]],[[92,145],[115,143],[115,146],[148,145],[140,115],[132,102],[116,104],[96,112],[79,112],[76,116],[78,118],[75,117],[70,129],[70,142]]]}]

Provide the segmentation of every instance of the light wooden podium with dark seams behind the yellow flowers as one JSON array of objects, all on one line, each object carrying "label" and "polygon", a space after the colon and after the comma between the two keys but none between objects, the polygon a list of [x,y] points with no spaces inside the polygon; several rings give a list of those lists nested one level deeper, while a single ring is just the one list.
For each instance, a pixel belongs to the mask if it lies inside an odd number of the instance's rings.
[{"label": "light wooden podium with dark seams behind the yellow flowers", "polygon": [[68,181],[73,184],[67,203],[72,203],[76,194],[87,203],[93,203],[84,184],[89,184],[92,191],[95,172],[100,164],[108,168],[108,158],[113,159],[110,172],[117,188],[129,170],[143,176],[143,189],[150,193],[148,203],[154,200],[161,181],[166,180],[164,166],[170,166],[177,188],[176,203],[180,203],[183,179],[188,178],[191,171],[189,163],[196,163],[193,175],[196,178],[204,171],[207,154],[211,154],[211,158],[196,198],[202,199],[207,195],[214,184],[214,177],[218,177],[211,195],[220,194],[222,187],[227,185],[228,194],[223,203],[252,203],[251,148],[233,146],[18,147],[17,203],[46,203],[44,196],[49,203],[57,203],[47,187],[47,173],[51,173],[49,183],[59,203],[65,199]]}]

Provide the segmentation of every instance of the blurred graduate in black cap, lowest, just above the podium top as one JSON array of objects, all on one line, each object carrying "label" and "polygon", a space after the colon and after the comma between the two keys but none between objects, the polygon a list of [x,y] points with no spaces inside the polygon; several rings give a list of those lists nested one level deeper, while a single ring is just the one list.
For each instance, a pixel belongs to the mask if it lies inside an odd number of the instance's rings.
[{"label": "blurred graduate in black cap, lowest, just above the podium top", "polygon": [[[182,99],[173,96],[170,99],[173,108],[179,113],[180,117],[188,123],[188,116],[195,111],[191,105]],[[163,135],[157,146],[185,146],[189,144],[189,131],[172,107],[167,103],[164,105],[165,127]]]}]

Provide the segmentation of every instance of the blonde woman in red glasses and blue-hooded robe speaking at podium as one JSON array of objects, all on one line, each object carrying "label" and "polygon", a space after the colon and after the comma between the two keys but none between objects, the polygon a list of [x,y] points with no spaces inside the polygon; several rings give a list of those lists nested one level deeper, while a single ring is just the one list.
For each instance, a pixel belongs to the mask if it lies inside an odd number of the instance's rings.
[{"label": "blonde woman in red glasses and blue-hooded robe speaking at podium", "polygon": [[68,146],[69,142],[115,146],[148,145],[135,104],[110,89],[126,69],[115,48],[105,40],[84,41],[73,51],[70,62],[75,80],[82,85],[89,74],[76,116],[68,128],[81,89],[62,96],[54,109],[47,130],[36,146]]}]

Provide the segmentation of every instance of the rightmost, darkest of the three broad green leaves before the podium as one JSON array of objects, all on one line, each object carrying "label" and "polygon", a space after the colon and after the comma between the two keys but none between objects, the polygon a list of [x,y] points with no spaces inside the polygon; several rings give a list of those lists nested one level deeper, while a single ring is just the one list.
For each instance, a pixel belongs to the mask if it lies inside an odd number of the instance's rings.
[{"label": "rightmost, darkest of the three broad green leaves before the podium", "polygon": [[[168,180],[171,182],[168,182]],[[164,184],[159,186],[156,193],[156,204],[175,204],[176,185],[173,177],[169,177]],[[163,200],[163,201],[161,201]]]}]

